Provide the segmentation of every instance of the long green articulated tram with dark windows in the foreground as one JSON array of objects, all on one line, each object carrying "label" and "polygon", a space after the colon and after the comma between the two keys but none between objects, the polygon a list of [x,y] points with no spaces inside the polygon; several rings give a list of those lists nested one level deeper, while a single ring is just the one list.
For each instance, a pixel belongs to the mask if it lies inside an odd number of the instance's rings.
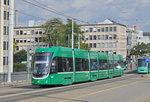
[{"label": "long green articulated tram with dark windows in the foreground", "polygon": [[33,85],[69,85],[122,76],[121,55],[67,47],[38,48],[34,56]]}]

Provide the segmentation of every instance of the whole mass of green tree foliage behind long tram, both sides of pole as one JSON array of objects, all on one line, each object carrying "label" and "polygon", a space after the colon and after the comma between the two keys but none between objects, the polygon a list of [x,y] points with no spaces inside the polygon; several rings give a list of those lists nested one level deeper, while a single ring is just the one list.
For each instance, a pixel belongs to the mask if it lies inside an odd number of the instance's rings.
[{"label": "whole mass of green tree foliage behind long tram, both sides of pole", "polygon": [[[50,40],[53,42],[53,46],[64,46],[71,47],[71,38],[72,38],[72,20],[67,19],[67,24],[63,24],[61,19],[53,18],[52,20],[47,21],[45,25],[42,26],[45,28],[45,34],[43,36],[45,43],[50,43]],[[51,33],[51,34],[50,34]],[[78,44],[78,35],[83,35],[83,32],[80,30],[80,26],[74,22],[74,46],[77,48]],[[51,38],[51,39],[50,39]],[[89,46],[86,43],[81,42],[80,46],[82,49],[89,50]]]}]

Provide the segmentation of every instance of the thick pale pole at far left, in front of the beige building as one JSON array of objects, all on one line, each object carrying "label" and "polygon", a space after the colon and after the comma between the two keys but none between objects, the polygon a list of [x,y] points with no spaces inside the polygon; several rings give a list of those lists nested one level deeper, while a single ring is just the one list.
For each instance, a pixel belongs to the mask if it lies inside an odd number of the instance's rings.
[{"label": "thick pale pole at far left, in front of the beige building", "polygon": [[9,36],[8,36],[8,83],[11,83],[11,70],[13,69],[13,24],[14,0],[9,0]]}]

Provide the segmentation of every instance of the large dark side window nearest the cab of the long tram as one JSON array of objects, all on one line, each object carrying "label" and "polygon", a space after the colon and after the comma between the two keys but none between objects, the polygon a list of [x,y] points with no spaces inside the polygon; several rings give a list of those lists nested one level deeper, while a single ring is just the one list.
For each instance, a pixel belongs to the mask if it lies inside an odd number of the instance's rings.
[{"label": "large dark side window nearest the cab of the long tram", "polygon": [[58,70],[58,72],[72,72],[73,71],[73,59],[72,58],[56,57],[55,60],[56,60],[55,69]]}]

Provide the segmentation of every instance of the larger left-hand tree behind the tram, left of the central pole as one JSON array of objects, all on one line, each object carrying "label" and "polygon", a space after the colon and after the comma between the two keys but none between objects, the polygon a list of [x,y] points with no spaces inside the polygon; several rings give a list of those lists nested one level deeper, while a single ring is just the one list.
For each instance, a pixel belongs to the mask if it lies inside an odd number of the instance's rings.
[{"label": "larger left-hand tree behind the tram, left of the central pole", "polygon": [[[43,36],[43,41],[50,44],[50,46],[59,46],[60,39],[64,32],[64,24],[60,18],[53,18],[46,22],[42,27],[45,29],[45,34]],[[57,38],[57,39],[56,39]]]}]

